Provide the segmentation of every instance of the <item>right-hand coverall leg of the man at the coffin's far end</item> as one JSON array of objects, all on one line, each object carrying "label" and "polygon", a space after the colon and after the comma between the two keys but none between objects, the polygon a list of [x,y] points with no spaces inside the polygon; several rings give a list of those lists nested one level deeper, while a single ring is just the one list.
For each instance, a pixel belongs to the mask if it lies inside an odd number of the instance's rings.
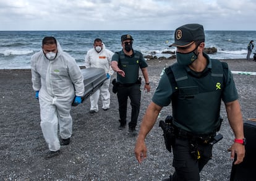
[{"label": "right-hand coverall leg of the man at the coffin's far end", "polygon": [[110,104],[110,93],[109,93],[109,83],[110,79],[105,80],[100,88],[102,109],[109,109]]}]

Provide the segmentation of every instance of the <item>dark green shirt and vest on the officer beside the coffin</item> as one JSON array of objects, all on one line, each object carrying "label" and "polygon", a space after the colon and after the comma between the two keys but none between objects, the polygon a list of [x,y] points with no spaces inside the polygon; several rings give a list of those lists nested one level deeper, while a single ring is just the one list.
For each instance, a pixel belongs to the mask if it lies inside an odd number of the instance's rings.
[{"label": "dark green shirt and vest on the officer beside the coffin", "polygon": [[139,78],[139,68],[142,69],[148,66],[142,53],[139,51],[134,51],[132,56],[127,56],[121,50],[113,55],[112,61],[118,62],[119,69],[123,70],[126,74],[125,77],[117,74],[117,82],[122,84],[136,83]]}]

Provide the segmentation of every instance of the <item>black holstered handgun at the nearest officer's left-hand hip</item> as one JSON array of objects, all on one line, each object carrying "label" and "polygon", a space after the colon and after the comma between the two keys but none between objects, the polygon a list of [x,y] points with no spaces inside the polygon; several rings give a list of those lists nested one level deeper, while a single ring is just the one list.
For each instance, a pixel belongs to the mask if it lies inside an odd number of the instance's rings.
[{"label": "black holstered handgun at the nearest officer's left-hand hip", "polygon": [[166,149],[171,153],[171,146],[175,143],[173,117],[167,116],[166,119],[160,120],[159,127],[163,130],[163,137]]}]

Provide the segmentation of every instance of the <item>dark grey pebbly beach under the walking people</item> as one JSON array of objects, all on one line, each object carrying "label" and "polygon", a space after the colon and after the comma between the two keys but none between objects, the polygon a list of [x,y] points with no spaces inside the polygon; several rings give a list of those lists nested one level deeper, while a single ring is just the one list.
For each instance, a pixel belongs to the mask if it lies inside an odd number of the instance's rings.
[{"label": "dark grey pebbly beach under the walking people", "polygon": [[[158,85],[164,65],[175,60],[148,61],[151,92],[142,87],[142,102],[138,128],[145,109]],[[245,59],[226,59],[231,70],[256,71],[256,62]],[[244,120],[256,118],[256,76],[234,74]],[[113,77],[115,78],[114,74]],[[48,146],[40,128],[40,107],[32,89],[30,69],[0,70],[0,180],[161,180],[174,172],[173,154],[164,146],[163,132],[158,127],[171,113],[164,107],[146,144],[148,157],[139,164],[134,156],[137,137],[128,128],[118,130],[117,97],[111,92],[111,108],[89,114],[87,99],[73,107],[73,135],[70,145],[61,147],[61,155],[45,159]],[[109,87],[112,90],[112,85]],[[99,101],[99,107],[101,107]],[[127,119],[130,119],[128,106]],[[233,132],[226,111],[220,133],[223,140],[213,147],[213,158],[201,172],[201,180],[229,180],[232,160],[227,149],[233,143]]]}]

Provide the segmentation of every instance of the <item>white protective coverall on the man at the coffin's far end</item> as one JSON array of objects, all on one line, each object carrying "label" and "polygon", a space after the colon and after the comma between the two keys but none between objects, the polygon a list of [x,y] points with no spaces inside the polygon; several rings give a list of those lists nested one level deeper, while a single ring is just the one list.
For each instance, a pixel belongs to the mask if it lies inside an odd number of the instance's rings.
[{"label": "white protective coverall on the man at the coffin's far end", "polygon": [[[113,75],[114,71],[111,68],[111,59],[113,52],[106,49],[105,44],[102,43],[102,49],[98,53],[95,48],[90,49],[85,56],[85,67],[97,67],[105,70],[106,74]],[[98,112],[98,99],[101,95],[102,109],[109,109],[110,93],[109,93],[110,78],[106,79],[100,89],[96,90],[92,96],[90,96],[91,111]]]}]

